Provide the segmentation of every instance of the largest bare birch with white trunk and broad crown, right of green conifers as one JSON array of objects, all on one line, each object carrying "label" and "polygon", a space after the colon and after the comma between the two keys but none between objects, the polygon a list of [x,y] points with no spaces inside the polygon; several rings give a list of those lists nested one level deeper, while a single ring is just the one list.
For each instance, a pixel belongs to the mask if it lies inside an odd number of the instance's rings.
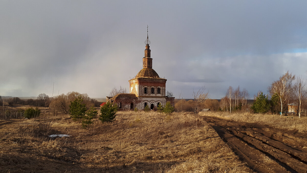
[{"label": "largest bare birch with white trunk and broad crown, right of green conifers", "polygon": [[274,81],[271,85],[270,91],[271,95],[277,94],[279,97],[279,102],[281,106],[280,116],[282,116],[282,108],[286,101],[289,99],[289,93],[293,89],[292,81],[295,79],[295,75],[289,74],[289,71],[286,74],[282,75],[279,80]]}]

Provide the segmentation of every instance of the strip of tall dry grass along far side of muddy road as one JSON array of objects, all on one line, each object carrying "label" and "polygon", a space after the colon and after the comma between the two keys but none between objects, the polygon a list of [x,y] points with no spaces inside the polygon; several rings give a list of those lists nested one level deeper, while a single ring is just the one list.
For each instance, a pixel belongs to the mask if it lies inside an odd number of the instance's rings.
[{"label": "strip of tall dry grass along far side of muddy road", "polygon": [[252,114],[252,113],[229,113],[229,112],[202,112],[200,115],[215,116],[222,119],[234,120],[247,123],[258,123],[269,125],[271,127],[307,133],[307,117],[298,118],[298,116],[280,116],[269,114]]}]

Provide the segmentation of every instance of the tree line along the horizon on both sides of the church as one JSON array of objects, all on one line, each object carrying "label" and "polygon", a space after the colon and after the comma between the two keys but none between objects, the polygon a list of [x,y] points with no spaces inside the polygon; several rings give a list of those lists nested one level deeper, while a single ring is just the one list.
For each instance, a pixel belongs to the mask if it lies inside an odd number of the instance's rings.
[{"label": "tree line along the horizon on both sides of the church", "polygon": [[[306,114],[307,111],[307,88],[306,80],[302,77],[295,77],[286,72],[278,80],[273,81],[268,87],[268,94],[263,94],[262,91],[258,91],[257,95],[254,95],[254,103],[249,105],[247,100],[250,99],[248,91],[240,86],[233,89],[232,86],[226,91],[223,98],[218,101],[217,99],[209,99],[209,93],[205,92],[204,86],[198,91],[193,91],[193,99],[176,99],[175,111],[191,111],[195,114],[204,108],[209,108],[212,111],[229,111],[232,112],[249,112],[254,113],[272,113],[281,114],[287,111],[288,104],[292,103],[297,106],[297,114],[299,117],[301,113]],[[119,93],[126,93],[126,88],[117,90],[114,87],[109,96],[114,96]],[[171,91],[168,91],[169,96],[173,96]],[[181,93],[180,93],[181,94]],[[61,94],[57,97],[50,98],[45,93],[37,96],[37,99],[22,100],[18,97],[9,98],[6,100],[9,106],[14,104],[31,105],[35,107],[50,107],[50,110],[55,114],[69,114],[70,102],[76,99],[79,95],[82,96],[83,103],[87,109],[91,106],[99,107],[102,102],[96,99],[91,99],[87,94],[80,94],[79,92],[71,91],[67,94]],[[180,98],[180,96],[179,96]],[[2,100],[0,100],[2,106]]]}]

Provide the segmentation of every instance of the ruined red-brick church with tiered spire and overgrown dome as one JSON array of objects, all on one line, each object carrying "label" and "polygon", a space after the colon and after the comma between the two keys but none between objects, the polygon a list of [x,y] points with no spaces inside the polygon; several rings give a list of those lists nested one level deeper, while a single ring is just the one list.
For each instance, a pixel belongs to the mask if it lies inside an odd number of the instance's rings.
[{"label": "ruined red-brick church with tiered spire and overgrown dome", "polygon": [[166,102],[170,102],[174,106],[175,97],[167,97],[166,79],[160,78],[155,70],[153,70],[153,58],[150,57],[150,40],[145,40],[145,56],[143,57],[143,69],[131,80],[129,80],[129,94],[122,93],[114,97],[107,97],[107,102],[116,103],[119,110],[144,109],[147,105],[153,110],[160,104],[165,106]]}]

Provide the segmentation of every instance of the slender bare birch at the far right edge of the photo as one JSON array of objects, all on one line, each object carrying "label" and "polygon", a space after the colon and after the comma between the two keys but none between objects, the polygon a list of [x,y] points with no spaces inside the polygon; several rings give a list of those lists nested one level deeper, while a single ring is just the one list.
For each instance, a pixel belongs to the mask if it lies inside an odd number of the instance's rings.
[{"label": "slender bare birch at the far right edge of the photo", "polygon": [[298,77],[296,79],[294,88],[295,88],[294,94],[297,98],[298,118],[301,118],[302,104],[305,101],[306,96],[307,96],[307,90],[306,90],[304,79],[302,79],[301,77]]}]

